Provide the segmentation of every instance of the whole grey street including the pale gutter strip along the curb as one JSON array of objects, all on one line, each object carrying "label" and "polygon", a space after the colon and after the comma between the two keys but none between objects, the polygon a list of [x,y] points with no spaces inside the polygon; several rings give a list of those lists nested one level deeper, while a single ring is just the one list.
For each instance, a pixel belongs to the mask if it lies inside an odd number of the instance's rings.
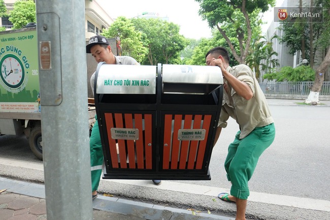
[{"label": "whole grey street including the pale gutter strip along the curb", "polygon": [[[330,219],[330,105],[284,102],[281,105],[278,100],[270,100],[276,138],[260,158],[249,182],[248,217]],[[223,129],[213,150],[210,181],[163,181],[160,186],[154,186],[150,180],[102,180],[100,191],[138,201],[233,215],[235,204],[219,201],[216,195],[230,188],[223,162],[227,145],[237,130],[233,120]],[[29,151],[24,136],[1,136],[0,152],[0,175],[43,181],[42,162]],[[22,172],[19,166],[27,169]]]}]

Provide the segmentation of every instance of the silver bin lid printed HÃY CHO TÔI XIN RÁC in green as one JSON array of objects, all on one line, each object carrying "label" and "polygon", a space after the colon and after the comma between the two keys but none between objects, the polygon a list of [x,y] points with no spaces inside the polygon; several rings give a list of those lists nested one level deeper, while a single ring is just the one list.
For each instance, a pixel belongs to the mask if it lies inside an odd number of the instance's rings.
[{"label": "silver bin lid printed H\u00c3Y CHO T\u00d4I XIN R\u00c1C in green", "polygon": [[97,94],[156,94],[156,66],[103,64]]}]

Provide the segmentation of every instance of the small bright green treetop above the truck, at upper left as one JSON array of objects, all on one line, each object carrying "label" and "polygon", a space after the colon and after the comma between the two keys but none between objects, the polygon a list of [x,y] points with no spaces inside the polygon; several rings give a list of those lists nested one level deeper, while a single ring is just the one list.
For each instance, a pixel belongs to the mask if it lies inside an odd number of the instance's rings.
[{"label": "small bright green treetop above the truck, at upper left", "polygon": [[13,23],[12,29],[25,27],[29,22],[36,22],[36,4],[33,0],[19,0],[14,3],[13,10],[9,14],[9,20]]}]

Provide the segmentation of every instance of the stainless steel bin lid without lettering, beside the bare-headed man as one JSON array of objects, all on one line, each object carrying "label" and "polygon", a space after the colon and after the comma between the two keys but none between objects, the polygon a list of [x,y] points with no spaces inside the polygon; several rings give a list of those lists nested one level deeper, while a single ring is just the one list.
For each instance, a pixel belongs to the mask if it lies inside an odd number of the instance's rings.
[{"label": "stainless steel bin lid without lettering, beside the bare-headed man", "polygon": [[211,93],[223,85],[218,66],[171,65],[162,66],[163,93]]}]

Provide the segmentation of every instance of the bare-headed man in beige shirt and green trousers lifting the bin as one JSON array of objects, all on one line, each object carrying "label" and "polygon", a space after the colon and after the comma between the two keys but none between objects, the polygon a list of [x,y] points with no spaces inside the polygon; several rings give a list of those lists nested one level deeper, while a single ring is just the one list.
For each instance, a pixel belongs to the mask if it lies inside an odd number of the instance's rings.
[{"label": "bare-headed man in beige shirt and green trousers lifting the bin", "polygon": [[224,81],[216,140],[221,129],[227,126],[229,117],[234,118],[240,127],[234,141],[228,146],[224,163],[232,188],[230,194],[220,193],[218,197],[236,202],[236,219],[246,219],[246,204],[250,195],[248,181],[262,152],[275,138],[274,121],[265,95],[247,65],[229,66],[229,55],[223,47],[211,49],[205,57],[207,65],[221,68]]}]

